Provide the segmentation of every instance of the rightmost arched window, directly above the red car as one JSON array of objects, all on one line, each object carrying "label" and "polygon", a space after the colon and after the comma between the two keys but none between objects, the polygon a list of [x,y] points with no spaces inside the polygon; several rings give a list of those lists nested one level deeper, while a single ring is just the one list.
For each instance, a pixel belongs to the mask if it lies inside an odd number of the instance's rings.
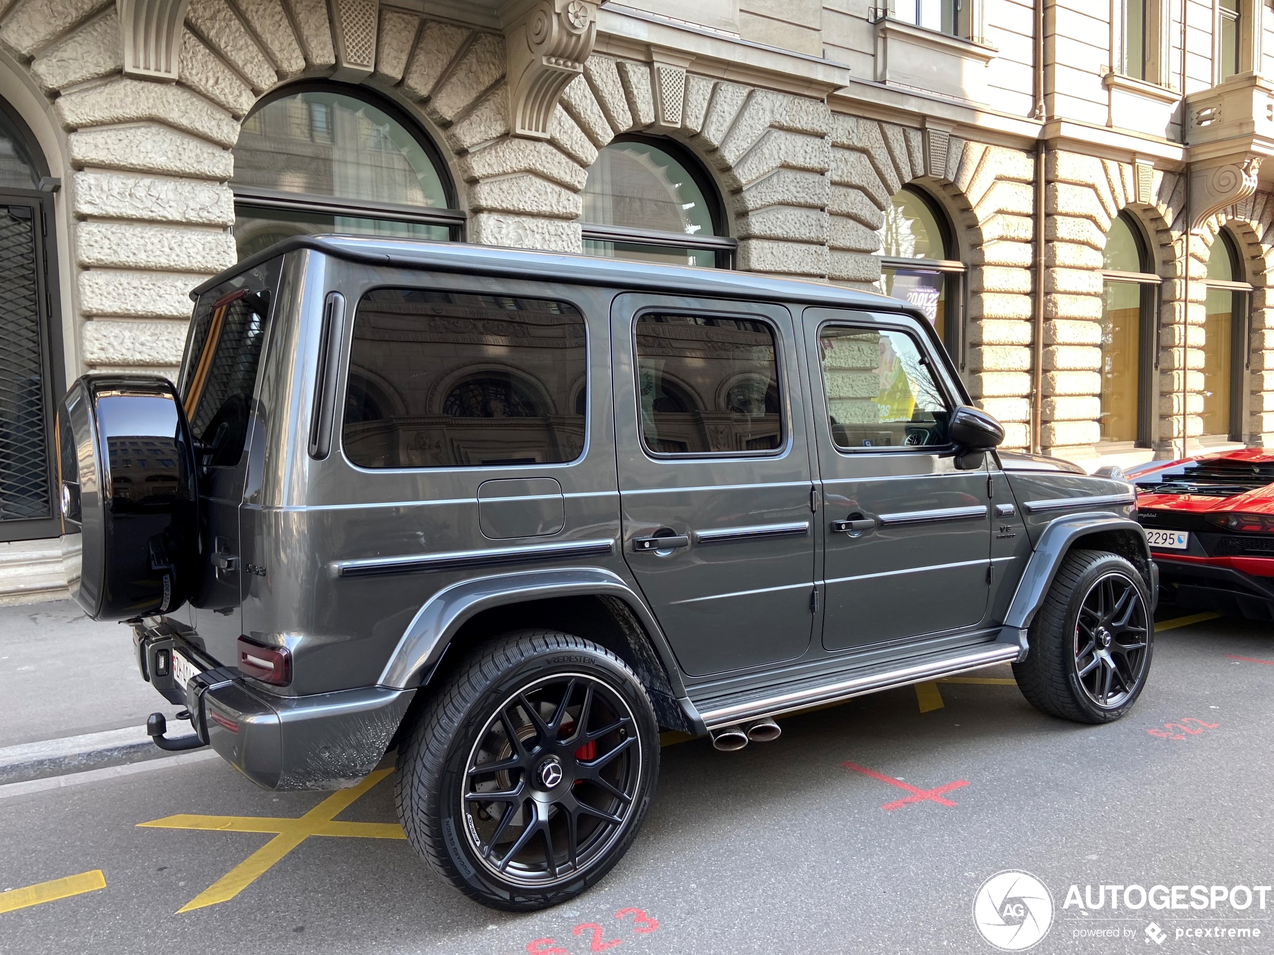
[{"label": "rightmost arched window, directly above the red car", "polygon": [[1203,433],[1242,441],[1247,294],[1233,237],[1222,230],[1208,258],[1203,364]]}]

